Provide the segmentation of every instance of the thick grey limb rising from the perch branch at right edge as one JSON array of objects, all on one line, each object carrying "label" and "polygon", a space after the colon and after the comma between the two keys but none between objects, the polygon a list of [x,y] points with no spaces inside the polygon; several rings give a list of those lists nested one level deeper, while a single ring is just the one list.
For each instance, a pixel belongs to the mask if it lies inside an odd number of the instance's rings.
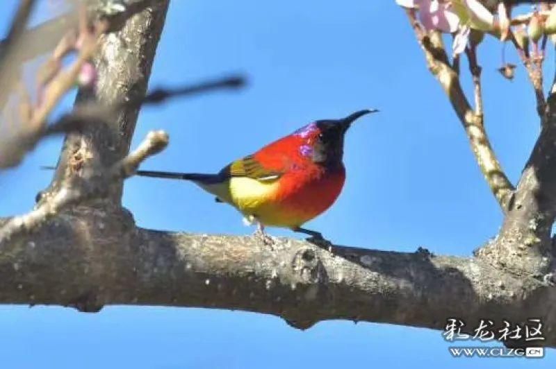
[{"label": "thick grey limb rising from the perch branch at right edge", "polygon": [[556,79],[546,123],[518,182],[496,242],[478,253],[514,273],[544,273],[556,268],[550,239],[556,218]]}]

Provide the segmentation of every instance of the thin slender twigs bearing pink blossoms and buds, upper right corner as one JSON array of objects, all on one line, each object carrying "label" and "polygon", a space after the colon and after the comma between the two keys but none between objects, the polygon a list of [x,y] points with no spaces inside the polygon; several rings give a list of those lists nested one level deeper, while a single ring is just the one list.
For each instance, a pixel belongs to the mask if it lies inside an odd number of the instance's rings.
[{"label": "thin slender twigs bearing pink blossoms and buds, upper right corner", "polygon": [[[514,196],[514,186],[502,171],[484,128],[480,55],[484,37],[509,42],[518,53],[534,90],[541,126],[548,121],[543,92],[543,62],[548,40],[556,40],[556,6],[541,1],[499,0],[396,0],[407,12],[409,22],[425,53],[427,67],[439,80],[463,124],[475,159],[504,212]],[[538,3],[532,12],[514,15],[518,3]],[[445,46],[442,33],[452,35]],[[461,55],[468,59],[473,81],[473,98],[461,88]],[[502,60],[503,77],[514,78],[516,66]],[[471,107],[469,101],[474,101]]]}]

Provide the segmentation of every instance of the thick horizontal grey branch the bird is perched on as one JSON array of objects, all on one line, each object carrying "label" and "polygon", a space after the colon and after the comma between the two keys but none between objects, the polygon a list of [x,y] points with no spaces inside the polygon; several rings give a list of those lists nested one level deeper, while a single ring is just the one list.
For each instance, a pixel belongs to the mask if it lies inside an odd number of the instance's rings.
[{"label": "thick horizontal grey branch the bird is perched on", "polygon": [[[305,241],[208,236],[135,228],[129,213],[76,208],[38,232],[3,245],[0,302],[240,309],[308,328],[347,319],[442,329],[541,317],[556,346],[556,288],[515,277],[480,259]],[[56,267],[53,267],[56,266]]]}]

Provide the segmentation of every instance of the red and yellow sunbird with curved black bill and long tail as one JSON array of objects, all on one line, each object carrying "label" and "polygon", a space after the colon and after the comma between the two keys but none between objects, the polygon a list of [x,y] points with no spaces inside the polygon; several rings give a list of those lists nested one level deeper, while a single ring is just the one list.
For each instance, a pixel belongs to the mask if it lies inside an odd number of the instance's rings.
[{"label": "red and yellow sunbird with curved black bill and long tail", "polygon": [[262,234],[269,225],[322,239],[320,232],[302,225],[325,212],[340,195],[345,132],[372,112],[377,110],[314,121],[215,174],[137,171],[137,175],[190,180],[258,223]]}]

